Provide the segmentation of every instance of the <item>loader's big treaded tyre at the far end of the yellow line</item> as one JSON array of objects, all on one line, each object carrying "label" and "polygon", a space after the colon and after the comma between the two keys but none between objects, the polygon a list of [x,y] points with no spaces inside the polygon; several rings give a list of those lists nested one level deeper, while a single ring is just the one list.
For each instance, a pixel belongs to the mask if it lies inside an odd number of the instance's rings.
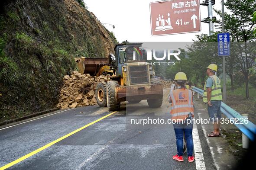
[{"label": "loader's big treaded tyre at the far end of the yellow line", "polygon": [[120,102],[116,99],[116,86],[118,86],[117,81],[107,82],[107,107],[109,111],[116,111],[120,109]]}]

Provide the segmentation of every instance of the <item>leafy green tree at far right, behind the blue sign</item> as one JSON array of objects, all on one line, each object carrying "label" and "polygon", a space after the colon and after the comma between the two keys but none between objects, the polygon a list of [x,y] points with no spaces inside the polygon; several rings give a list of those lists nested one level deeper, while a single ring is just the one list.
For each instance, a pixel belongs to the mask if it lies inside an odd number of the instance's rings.
[{"label": "leafy green tree at far right, behind the blue sign", "polygon": [[[231,13],[225,13],[225,32],[230,32],[233,41],[236,41],[237,53],[233,56],[236,63],[233,68],[240,71],[245,80],[246,98],[249,98],[249,76],[254,67],[255,54],[253,54],[252,44],[255,41],[253,36],[253,11],[255,10],[255,0],[227,0],[224,5]],[[221,11],[215,10],[220,16]],[[217,21],[217,28],[221,29],[221,20]],[[228,57],[227,57],[228,58]],[[227,63],[229,64],[229,63]]]}]

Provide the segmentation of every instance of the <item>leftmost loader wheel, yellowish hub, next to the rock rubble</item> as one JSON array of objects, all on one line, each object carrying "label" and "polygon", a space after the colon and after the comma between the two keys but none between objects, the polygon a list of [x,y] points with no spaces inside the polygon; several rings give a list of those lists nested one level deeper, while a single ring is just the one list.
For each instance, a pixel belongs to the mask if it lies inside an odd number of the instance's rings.
[{"label": "leftmost loader wheel, yellowish hub, next to the rock rubble", "polygon": [[106,82],[101,82],[97,84],[96,87],[96,100],[100,107],[107,107],[107,88]]}]

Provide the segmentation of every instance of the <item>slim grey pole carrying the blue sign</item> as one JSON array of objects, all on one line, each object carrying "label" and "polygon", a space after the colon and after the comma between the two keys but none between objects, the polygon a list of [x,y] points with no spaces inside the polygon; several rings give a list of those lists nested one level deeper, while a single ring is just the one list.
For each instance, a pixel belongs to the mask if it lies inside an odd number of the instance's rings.
[{"label": "slim grey pole carrying the blue sign", "polygon": [[[224,0],[221,0],[222,6],[222,33],[225,32],[225,25],[224,25]],[[223,101],[226,103],[227,101],[227,87],[226,87],[226,61],[225,56],[222,56],[222,70],[223,70]]]}]

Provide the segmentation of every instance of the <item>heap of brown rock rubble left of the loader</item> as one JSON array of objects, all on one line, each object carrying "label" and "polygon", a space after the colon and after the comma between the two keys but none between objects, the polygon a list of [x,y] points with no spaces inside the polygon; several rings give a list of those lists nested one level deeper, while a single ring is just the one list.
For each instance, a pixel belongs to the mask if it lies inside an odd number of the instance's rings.
[{"label": "heap of brown rock rubble left of the loader", "polygon": [[107,76],[99,77],[72,71],[71,76],[64,76],[57,108],[76,108],[97,104],[95,89],[97,83],[107,81]]}]

